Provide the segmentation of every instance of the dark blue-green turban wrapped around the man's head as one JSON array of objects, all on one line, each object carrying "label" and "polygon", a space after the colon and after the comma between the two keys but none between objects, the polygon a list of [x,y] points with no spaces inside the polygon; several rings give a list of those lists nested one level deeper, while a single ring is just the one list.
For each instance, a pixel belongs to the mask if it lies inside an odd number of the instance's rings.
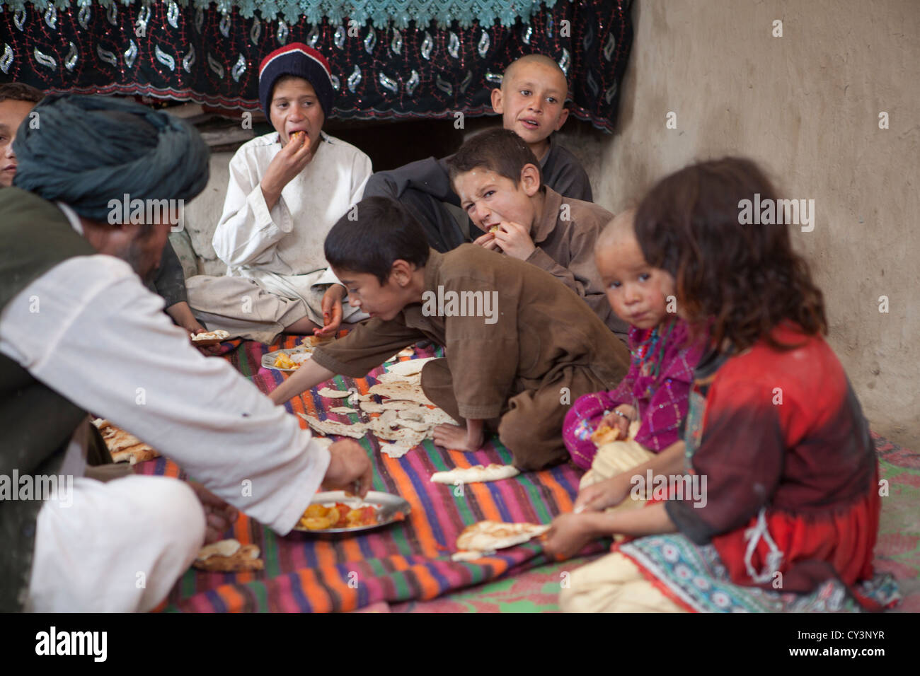
[{"label": "dark blue-green turban wrapped around the man's head", "polygon": [[13,184],[63,201],[84,218],[108,222],[109,201],[125,194],[189,201],[207,185],[207,144],[188,122],[165,112],[63,94],[45,97],[32,113],[13,143]]}]

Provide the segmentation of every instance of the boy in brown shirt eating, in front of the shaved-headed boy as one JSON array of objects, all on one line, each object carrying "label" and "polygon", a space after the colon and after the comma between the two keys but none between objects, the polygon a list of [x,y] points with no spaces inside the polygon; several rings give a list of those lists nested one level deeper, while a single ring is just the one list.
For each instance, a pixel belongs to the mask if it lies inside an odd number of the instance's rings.
[{"label": "boy in brown shirt eating, in front of the shaved-headed boy", "polygon": [[485,232],[473,244],[545,269],[627,338],[629,327],[607,303],[594,265],[594,244],[614,214],[544,185],[533,151],[505,129],[469,139],[447,166],[460,206]]}]

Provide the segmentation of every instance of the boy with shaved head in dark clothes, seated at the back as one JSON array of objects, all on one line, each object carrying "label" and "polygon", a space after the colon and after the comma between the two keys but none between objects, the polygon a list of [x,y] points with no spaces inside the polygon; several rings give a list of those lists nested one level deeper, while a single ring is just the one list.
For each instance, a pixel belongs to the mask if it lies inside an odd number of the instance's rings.
[{"label": "boy with shaved head in dark clothes, seated at the back", "polygon": [[[566,75],[557,63],[543,54],[528,54],[505,69],[500,88],[492,90],[492,109],[501,115],[505,129],[530,146],[544,184],[564,197],[592,201],[588,175],[575,155],[552,136],[569,117],[568,95]],[[448,176],[450,159],[429,157],[377,172],[368,180],[364,196],[401,201],[419,219],[429,244],[438,251],[449,251],[482,235],[466,216],[451,211],[452,206],[460,206],[460,200]]]}]

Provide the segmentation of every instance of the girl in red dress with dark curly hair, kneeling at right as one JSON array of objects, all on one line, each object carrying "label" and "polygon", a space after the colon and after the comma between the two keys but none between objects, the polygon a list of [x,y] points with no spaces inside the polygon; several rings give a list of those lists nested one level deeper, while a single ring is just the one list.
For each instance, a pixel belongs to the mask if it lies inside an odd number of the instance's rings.
[{"label": "girl in red dress with dark curly hair, kneeling at right", "polygon": [[[707,327],[684,443],[583,489],[548,533],[571,556],[595,537],[634,539],[575,570],[564,610],[847,611],[897,602],[874,576],[879,470],[821,291],[788,226],[741,223],[745,200],[776,206],[753,162],[688,166],[636,215],[642,252],[672,277],[678,315]],[[772,202],[771,202],[772,201]],[[605,513],[646,480],[646,509]],[[691,489],[692,487],[692,489]],[[578,513],[581,512],[581,513]]]}]

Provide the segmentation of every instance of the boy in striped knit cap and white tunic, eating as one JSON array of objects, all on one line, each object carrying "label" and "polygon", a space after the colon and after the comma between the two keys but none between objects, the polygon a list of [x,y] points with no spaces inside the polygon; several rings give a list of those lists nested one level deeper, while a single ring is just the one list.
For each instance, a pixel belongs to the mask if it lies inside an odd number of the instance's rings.
[{"label": "boy in striped knit cap and white tunic, eating", "polygon": [[209,328],[271,343],[363,318],[350,307],[342,315],[342,289],[323,258],[326,235],[361,200],[372,173],[367,155],[322,132],[333,97],[328,62],[301,42],[259,66],[259,100],[275,131],[244,143],[230,161],[213,236],[226,275],[186,282]]}]

